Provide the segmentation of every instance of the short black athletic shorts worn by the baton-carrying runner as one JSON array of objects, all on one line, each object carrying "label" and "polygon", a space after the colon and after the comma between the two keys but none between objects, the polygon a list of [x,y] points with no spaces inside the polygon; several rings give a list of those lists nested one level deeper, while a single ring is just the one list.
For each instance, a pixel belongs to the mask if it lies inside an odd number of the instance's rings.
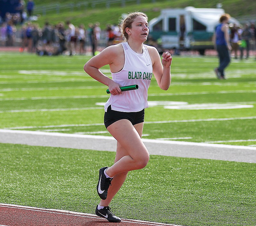
[{"label": "short black athletic shorts worn by the baton-carrying runner", "polygon": [[108,128],[109,125],[121,119],[129,120],[133,125],[144,122],[145,109],[138,112],[122,112],[111,109],[111,105],[108,106],[107,112],[104,114],[104,124]]}]

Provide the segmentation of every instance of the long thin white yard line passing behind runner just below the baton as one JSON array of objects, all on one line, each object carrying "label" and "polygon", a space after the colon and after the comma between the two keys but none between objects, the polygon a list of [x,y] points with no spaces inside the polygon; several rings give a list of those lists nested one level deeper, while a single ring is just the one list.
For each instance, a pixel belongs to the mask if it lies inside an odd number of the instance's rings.
[{"label": "long thin white yard line passing behind runner just below the baton", "polygon": [[[102,87],[101,87],[102,88]],[[45,89],[47,90],[47,89]],[[57,90],[57,89],[56,89]],[[59,89],[60,90],[60,89]],[[72,90],[72,89],[71,89]],[[0,90],[1,91],[1,90]],[[167,94],[148,94],[148,96],[185,96],[185,95],[207,95],[207,94],[231,94],[231,93],[256,93],[256,90],[236,90],[236,91],[219,91],[219,92],[191,92],[191,93],[167,93]],[[11,100],[51,100],[51,99],[70,99],[70,98],[105,98],[109,95],[93,96],[55,96],[55,97],[21,97],[21,98],[0,98],[0,101]]]}]

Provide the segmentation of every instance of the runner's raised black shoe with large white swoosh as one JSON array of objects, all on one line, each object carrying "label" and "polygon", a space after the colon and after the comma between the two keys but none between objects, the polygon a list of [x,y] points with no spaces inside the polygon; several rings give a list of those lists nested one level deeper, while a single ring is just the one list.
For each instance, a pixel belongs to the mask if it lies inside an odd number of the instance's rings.
[{"label": "runner's raised black shoe with large white swoosh", "polygon": [[109,188],[109,185],[111,185],[111,181],[113,179],[113,178],[109,178],[109,177],[107,178],[105,176],[104,170],[106,170],[107,168],[108,167],[100,168],[99,181],[98,181],[98,185],[97,185],[98,195],[103,200],[107,199],[108,188]]}]

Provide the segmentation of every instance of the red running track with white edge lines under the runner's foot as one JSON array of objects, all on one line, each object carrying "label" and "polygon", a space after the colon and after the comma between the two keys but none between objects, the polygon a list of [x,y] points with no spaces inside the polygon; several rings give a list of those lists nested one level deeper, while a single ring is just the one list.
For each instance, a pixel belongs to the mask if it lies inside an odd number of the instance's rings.
[{"label": "red running track with white edge lines under the runner's foot", "polygon": [[106,226],[115,224],[118,226],[179,226],[130,219],[111,223],[92,214],[0,204],[0,226]]}]

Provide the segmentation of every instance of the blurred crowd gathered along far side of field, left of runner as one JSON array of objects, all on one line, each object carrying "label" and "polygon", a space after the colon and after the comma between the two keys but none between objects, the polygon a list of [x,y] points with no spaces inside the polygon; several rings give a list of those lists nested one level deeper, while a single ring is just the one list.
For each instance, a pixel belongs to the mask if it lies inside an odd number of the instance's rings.
[{"label": "blurred crowd gathered along far side of field, left of runner", "polygon": [[104,47],[121,41],[119,27],[108,25],[101,30],[100,23],[73,25],[70,21],[51,25],[48,22],[43,27],[37,23],[26,21],[17,30],[13,19],[4,21],[0,28],[1,46],[14,46],[15,40],[20,45],[20,52],[27,51],[39,55],[75,55],[86,54],[91,47],[92,55],[99,51],[99,45]]}]

